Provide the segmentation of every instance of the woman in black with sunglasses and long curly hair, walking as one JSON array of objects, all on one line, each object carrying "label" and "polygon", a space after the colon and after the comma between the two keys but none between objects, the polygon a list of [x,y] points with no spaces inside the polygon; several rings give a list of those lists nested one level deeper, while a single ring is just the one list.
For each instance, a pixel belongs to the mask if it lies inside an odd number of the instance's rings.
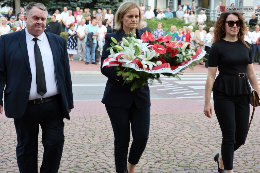
[{"label": "woman in black with sunglasses and long curly hair, walking", "polygon": [[[214,160],[218,163],[218,172],[232,173],[234,151],[244,144],[248,131],[250,84],[258,95],[260,91],[252,64],[252,49],[244,41],[241,13],[222,13],[214,27],[204,114],[212,116],[213,91],[214,109],[222,131],[221,153],[217,153]],[[219,74],[215,79],[217,68]]]}]

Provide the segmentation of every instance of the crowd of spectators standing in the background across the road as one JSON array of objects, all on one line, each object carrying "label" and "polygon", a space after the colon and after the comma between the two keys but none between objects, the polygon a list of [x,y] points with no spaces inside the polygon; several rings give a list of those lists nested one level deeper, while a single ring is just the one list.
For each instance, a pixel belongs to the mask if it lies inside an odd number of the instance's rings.
[{"label": "crowd of spectators standing in the background across the road", "polygon": [[[221,5],[222,3],[219,2],[216,9]],[[205,22],[207,16],[203,10],[200,10],[199,15],[195,14],[197,11],[195,1],[192,2],[191,6],[189,6],[187,2],[183,5],[178,5],[178,10],[175,14],[170,11],[170,8],[167,8],[164,12],[164,10],[155,7],[152,11],[151,6],[148,6],[148,9],[146,10],[142,3],[140,4],[140,9],[142,11],[143,19],[158,20],[157,28],[153,31],[147,26],[147,22],[142,20],[140,31],[151,32],[157,37],[169,34],[173,37],[171,41],[190,41],[201,49],[205,49],[205,46],[211,46],[210,43],[213,38],[214,28],[211,28],[209,33],[206,33],[206,31],[203,30],[206,26]],[[256,9],[256,14],[257,16],[255,13],[252,14],[252,19],[250,19],[249,22],[247,21],[245,14],[243,14],[244,22],[252,26],[257,25],[257,18],[260,15],[260,5],[258,5],[258,8]],[[9,10],[7,15],[0,19],[0,36],[1,34],[10,33],[13,26],[20,24],[25,27],[26,22],[24,21],[24,16],[25,9],[23,7],[17,16],[12,14],[12,10]],[[184,20],[185,24],[190,23],[190,25],[178,29],[176,25],[172,25],[170,31],[165,31],[162,29],[162,22],[160,22],[162,18],[176,18],[177,20]],[[193,32],[193,26],[195,25],[198,25],[199,30]],[[114,32],[113,27],[114,15],[111,9],[108,11],[107,9],[97,9],[93,10],[91,13],[89,8],[81,9],[77,7],[73,12],[72,10],[68,10],[67,7],[64,7],[61,13],[56,9],[54,14],[51,15],[51,22],[46,25],[46,31],[57,35],[60,35],[62,31],[68,32],[67,49],[69,60],[73,61],[73,55],[78,54],[79,61],[86,61],[85,64],[90,63],[90,56],[92,64],[100,64],[102,47],[105,44],[105,35]],[[93,35],[91,35],[91,33],[93,33]],[[249,40],[249,43],[251,43],[251,35],[251,32],[248,31],[245,36],[245,39]],[[255,41],[253,41],[253,44],[254,43]],[[255,51],[258,51],[259,49],[260,51],[260,47],[258,48],[257,46],[253,46],[253,49]],[[208,51],[209,50],[207,50],[207,53]],[[255,51],[253,51],[253,53]],[[202,62],[200,64],[202,64]],[[207,66],[207,62],[205,66]]]}]

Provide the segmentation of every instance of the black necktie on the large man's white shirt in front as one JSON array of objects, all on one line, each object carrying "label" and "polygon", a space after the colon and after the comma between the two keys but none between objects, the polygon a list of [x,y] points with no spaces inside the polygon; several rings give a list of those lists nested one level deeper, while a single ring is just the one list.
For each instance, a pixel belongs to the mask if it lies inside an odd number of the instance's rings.
[{"label": "black necktie on the large man's white shirt in front", "polygon": [[37,44],[38,38],[33,38],[35,41],[34,44],[34,56],[35,56],[35,65],[36,65],[36,84],[37,84],[37,93],[43,96],[47,92],[46,81],[44,68],[42,63],[42,55],[40,48]]}]

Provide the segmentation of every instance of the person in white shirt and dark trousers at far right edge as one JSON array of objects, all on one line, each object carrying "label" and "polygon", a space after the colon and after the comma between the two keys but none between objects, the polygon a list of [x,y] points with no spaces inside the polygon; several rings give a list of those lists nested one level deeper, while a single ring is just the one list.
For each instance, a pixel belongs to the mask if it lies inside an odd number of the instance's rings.
[{"label": "person in white shirt and dark trousers at far right edge", "polygon": [[255,31],[252,32],[252,38],[251,38],[251,41],[252,41],[252,57],[253,57],[253,62],[254,62],[254,59],[255,59],[255,54],[256,54],[256,51],[258,53],[258,64],[260,65],[260,42],[259,40],[260,39],[260,31],[259,31],[259,25],[256,25],[255,26]]}]

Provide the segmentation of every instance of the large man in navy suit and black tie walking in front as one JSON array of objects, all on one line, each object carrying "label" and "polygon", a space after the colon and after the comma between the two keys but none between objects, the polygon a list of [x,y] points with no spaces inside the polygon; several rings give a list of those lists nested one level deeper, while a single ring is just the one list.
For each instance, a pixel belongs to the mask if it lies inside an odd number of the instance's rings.
[{"label": "large man in navy suit and black tie walking in front", "polygon": [[40,172],[57,173],[63,118],[69,119],[73,108],[67,45],[64,38],[44,32],[48,11],[43,4],[29,3],[26,12],[24,30],[0,37],[0,113],[4,92],[5,115],[14,118],[19,171],[38,172],[40,124],[44,147]]}]

